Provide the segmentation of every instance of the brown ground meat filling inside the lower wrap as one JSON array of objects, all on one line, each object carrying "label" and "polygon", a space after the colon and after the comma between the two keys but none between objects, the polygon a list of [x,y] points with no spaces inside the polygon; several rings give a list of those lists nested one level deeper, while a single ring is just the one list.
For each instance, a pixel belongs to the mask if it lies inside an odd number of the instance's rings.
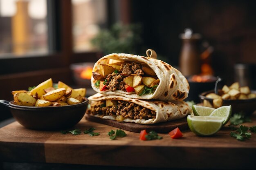
[{"label": "brown ground meat filling inside the lower wrap", "polygon": [[91,104],[92,115],[121,115],[132,119],[156,118],[156,112],[131,102],[118,101],[117,105],[106,107],[105,102],[94,102]]}]

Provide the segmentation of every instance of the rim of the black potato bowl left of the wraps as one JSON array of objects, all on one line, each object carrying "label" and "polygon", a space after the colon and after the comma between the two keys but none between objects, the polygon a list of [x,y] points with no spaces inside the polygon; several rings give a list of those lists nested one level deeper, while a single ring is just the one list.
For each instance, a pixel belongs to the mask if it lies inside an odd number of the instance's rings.
[{"label": "rim of the black potato bowl left of the wraps", "polygon": [[14,104],[14,101],[9,102],[9,107],[13,109],[18,109],[18,110],[62,110],[62,109],[70,109],[70,108],[76,108],[83,106],[85,104],[88,104],[89,100],[87,97],[85,97],[85,101],[79,103],[79,104],[72,104],[72,105],[66,105],[66,106],[47,106],[47,107],[37,107],[37,106],[20,106]]}]

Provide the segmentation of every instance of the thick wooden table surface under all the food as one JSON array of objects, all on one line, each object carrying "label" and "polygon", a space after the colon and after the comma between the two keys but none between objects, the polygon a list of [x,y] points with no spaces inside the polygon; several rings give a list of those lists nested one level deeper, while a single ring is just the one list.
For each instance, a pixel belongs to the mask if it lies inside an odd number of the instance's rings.
[{"label": "thick wooden table surface under all the food", "polygon": [[[244,125],[256,125],[253,122]],[[13,122],[0,128],[0,160],[3,162],[71,163],[103,166],[163,168],[254,168],[256,134],[247,141],[230,137],[227,125],[216,135],[198,137],[190,130],[180,139],[159,134],[162,140],[141,141],[139,133],[111,141],[107,135],[117,128],[84,118],[74,128],[90,127],[99,136],[62,135],[60,131],[29,130]],[[74,129],[72,128],[72,129]]]}]

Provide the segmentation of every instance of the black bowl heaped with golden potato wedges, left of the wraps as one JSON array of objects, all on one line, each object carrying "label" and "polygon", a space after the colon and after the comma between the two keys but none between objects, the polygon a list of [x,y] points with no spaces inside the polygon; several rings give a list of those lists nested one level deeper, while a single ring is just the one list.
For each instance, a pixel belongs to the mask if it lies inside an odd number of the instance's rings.
[{"label": "black bowl heaped with golden potato wedges, left of the wraps", "polygon": [[61,130],[76,125],[85,115],[89,100],[86,89],[73,89],[63,82],[53,86],[52,79],[31,91],[12,91],[13,101],[1,101],[25,128]]}]

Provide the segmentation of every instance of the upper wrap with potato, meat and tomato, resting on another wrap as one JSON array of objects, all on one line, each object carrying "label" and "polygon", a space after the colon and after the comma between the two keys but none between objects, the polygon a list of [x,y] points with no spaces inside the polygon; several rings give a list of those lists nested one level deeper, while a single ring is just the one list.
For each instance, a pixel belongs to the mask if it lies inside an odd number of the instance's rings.
[{"label": "upper wrap with potato, meat and tomato, resting on another wrap", "polygon": [[188,96],[187,79],[171,65],[150,57],[109,54],[93,67],[94,91],[132,99],[183,100]]}]

